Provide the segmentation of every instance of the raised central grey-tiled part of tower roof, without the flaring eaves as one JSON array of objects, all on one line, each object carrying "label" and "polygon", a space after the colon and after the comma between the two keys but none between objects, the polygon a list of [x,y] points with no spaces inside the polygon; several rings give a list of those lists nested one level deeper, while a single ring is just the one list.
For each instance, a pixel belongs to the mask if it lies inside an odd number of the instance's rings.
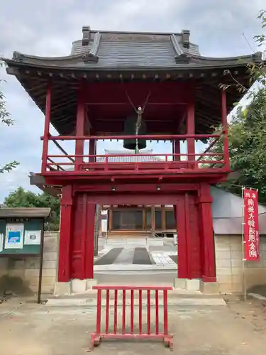
[{"label": "raised central grey-tiled part of tower roof, without the flaring eaves", "polygon": [[[189,43],[184,48],[182,33],[107,33],[90,31],[87,45],[84,40],[72,44],[72,55],[90,53],[95,38],[99,37],[96,49],[97,60],[88,60],[86,65],[96,67],[174,67],[179,55],[199,55],[199,47]],[[86,42],[85,42],[86,43]]]}]

